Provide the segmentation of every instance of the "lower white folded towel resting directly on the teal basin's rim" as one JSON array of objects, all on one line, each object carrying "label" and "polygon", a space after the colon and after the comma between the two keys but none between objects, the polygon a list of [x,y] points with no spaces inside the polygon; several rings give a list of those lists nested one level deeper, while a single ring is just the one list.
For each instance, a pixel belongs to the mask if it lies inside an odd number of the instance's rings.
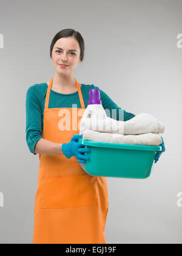
[{"label": "lower white folded towel resting directly on the teal basin's rim", "polygon": [[162,143],[158,133],[143,133],[138,135],[121,135],[116,133],[96,132],[93,130],[83,131],[83,140],[105,143],[138,144],[158,146]]}]

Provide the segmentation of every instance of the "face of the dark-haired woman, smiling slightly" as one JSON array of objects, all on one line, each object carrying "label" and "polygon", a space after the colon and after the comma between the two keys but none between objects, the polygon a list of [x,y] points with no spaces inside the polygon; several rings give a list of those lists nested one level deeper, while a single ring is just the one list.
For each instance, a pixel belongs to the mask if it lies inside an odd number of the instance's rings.
[{"label": "face of the dark-haired woman, smiling slightly", "polygon": [[[79,55],[79,44],[74,37],[59,38],[59,40],[56,41],[52,49],[53,66],[58,73],[73,73],[78,63],[81,62],[81,60],[79,59]],[[62,68],[60,64],[68,66],[66,66],[66,68]]]}]

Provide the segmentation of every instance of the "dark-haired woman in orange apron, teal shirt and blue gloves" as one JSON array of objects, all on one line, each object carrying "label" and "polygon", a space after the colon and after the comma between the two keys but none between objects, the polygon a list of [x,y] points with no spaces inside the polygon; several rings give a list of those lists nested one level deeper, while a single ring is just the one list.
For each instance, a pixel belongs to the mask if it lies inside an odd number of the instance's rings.
[{"label": "dark-haired woman in orange apron, teal shirt and blue gloves", "polygon": [[[81,34],[73,29],[58,32],[50,57],[55,75],[29,87],[26,97],[26,140],[30,152],[39,154],[33,243],[106,243],[106,177],[90,176],[79,165],[89,160],[84,155],[89,149],[78,143],[81,116],[72,111],[84,112],[89,90],[98,88],[75,79],[75,68],[84,57]],[[119,119],[121,108],[104,91],[100,94],[104,109],[116,109]],[[70,129],[62,129],[62,111],[69,113]],[[133,116],[124,110],[124,121]]]}]

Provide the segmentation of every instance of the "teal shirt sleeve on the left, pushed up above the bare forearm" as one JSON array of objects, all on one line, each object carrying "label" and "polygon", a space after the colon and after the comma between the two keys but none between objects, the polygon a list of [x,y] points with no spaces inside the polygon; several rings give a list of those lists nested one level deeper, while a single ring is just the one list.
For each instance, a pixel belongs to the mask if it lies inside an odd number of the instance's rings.
[{"label": "teal shirt sleeve on the left, pushed up above the bare forearm", "polygon": [[34,150],[38,140],[42,138],[41,103],[36,85],[29,87],[26,94],[26,141],[30,152]]}]

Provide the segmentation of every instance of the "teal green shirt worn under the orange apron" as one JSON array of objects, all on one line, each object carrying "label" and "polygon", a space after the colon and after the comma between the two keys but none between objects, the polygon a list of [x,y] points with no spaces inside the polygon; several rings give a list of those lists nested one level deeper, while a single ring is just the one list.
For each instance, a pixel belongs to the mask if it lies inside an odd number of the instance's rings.
[{"label": "teal green shirt worn under the orange apron", "polygon": [[[26,141],[30,152],[34,155],[36,155],[34,152],[36,143],[42,138],[43,133],[44,105],[47,88],[47,83],[35,84],[29,87],[26,94]],[[94,88],[99,89],[95,85],[81,84],[81,92],[86,108],[87,102],[89,101],[89,90]],[[120,121],[127,121],[135,116],[118,107],[104,91],[100,89],[99,91],[107,116]],[[49,108],[72,107],[72,104],[77,104],[77,108],[81,108],[78,91],[70,94],[62,94],[52,89],[50,90]]]}]

